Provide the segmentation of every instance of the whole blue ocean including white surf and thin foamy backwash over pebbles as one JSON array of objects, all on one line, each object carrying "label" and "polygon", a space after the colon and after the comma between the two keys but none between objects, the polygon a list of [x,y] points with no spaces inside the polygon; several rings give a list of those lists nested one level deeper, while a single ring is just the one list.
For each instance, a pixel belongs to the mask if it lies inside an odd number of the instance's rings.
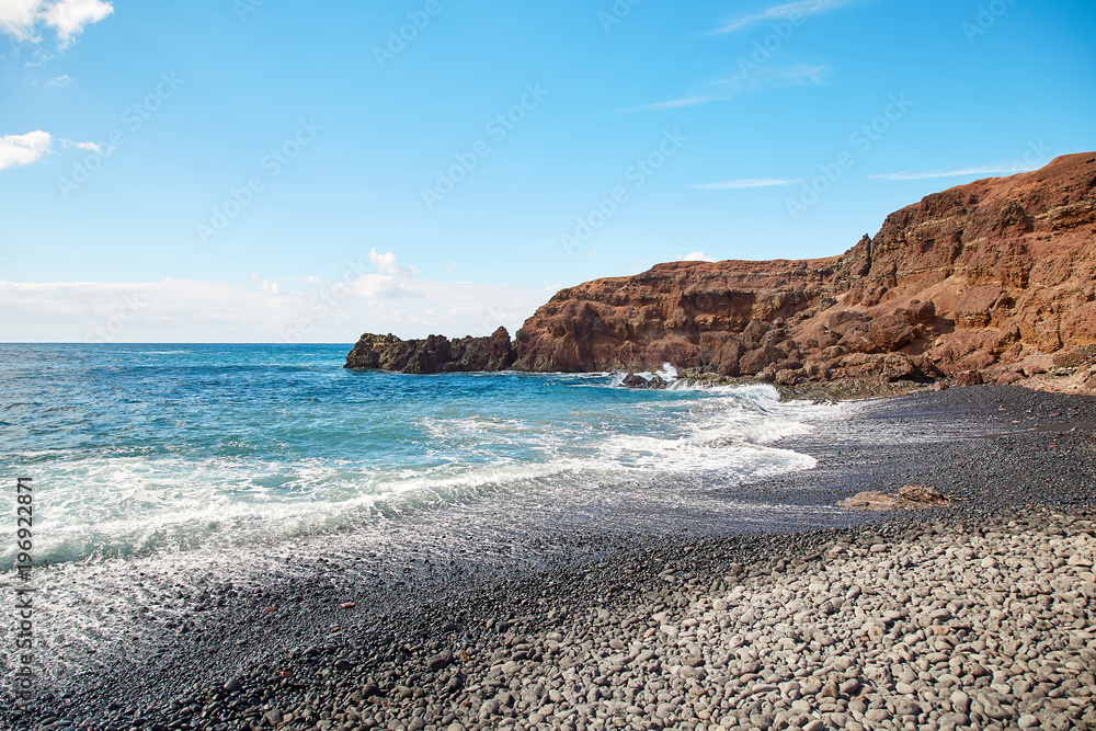
[{"label": "whole blue ocean including white surf and thin foamy backwash over pebbles", "polygon": [[[430,567],[535,570],[602,539],[857,519],[772,489],[817,464],[789,442],[845,433],[850,403],[633,390],[610,373],[355,372],[349,351],[0,345],[0,589],[34,589],[42,687],[172,652],[227,586],[279,605],[285,586],[357,582],[391,601]],[[19,478],[33,480],[30,582]]]}]

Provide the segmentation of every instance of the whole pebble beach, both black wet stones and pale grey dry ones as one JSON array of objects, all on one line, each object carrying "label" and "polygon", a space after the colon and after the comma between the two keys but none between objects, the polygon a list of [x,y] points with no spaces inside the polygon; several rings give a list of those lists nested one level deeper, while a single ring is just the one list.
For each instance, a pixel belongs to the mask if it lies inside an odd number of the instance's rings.
[{"label": "whole pebble beach, both black wet stones and pale grey dry ones", "polygon": [[[813,469],[735,489],[803,509],[784,525],[720,527],[710,503],[664,529],[616,523],[627,504],[563,522],[514,500],[499,510],[527,511],[526,528],[491,538],[449,518],[407,550],[395,535],[390,550],[317,538],[238,585],[216,566],[171,592],[150,573],[128,647],[73,656],[35,716],[12,720],[1088,728],[1093,399],[981,387],[858,409],[841,435],[780,443]],[[909,482],[956,500],[812,525],[830,515],[813,509]],[[161,603],[183,609],[157,621]]]}]

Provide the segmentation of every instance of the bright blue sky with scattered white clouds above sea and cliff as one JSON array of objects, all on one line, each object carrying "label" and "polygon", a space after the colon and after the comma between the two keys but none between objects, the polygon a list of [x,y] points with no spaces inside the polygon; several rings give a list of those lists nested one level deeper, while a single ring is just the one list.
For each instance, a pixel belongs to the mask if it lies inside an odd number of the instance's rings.
[{"label": "bright blue sky with scattered white clouds above sea and cliff", "polygon": [[0,341],[511,333],[1096,149],[1091,0],[0,0]]}]

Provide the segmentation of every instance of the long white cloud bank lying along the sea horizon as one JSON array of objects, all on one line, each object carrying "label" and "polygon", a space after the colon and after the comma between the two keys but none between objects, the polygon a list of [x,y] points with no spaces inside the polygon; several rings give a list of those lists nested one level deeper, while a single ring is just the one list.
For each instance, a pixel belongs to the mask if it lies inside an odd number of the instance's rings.
[{"label": "long white cloud bank lying along the sea horizon", "polygon": [[[262,276],[225,284],[0,282],[0,342],[353,343],[363,332],[514,334],[557,288],[358,276],[283,286]],[[307,277],[306,277],[307,278]]]}]

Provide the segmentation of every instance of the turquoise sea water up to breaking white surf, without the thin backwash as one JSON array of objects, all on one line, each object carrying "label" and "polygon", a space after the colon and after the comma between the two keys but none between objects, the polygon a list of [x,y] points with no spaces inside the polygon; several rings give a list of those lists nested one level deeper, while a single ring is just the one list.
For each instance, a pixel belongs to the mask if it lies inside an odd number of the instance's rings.
[{"label": "turquoise sea water up to breaking white surf, without the thin backwash", "polygon": [[[403,376],[349,345],[0,345],[0,480],[32,477],[38,561],[255,546],[476,501],[658,493],[806,469],[765,386],[619,374]],[[615,487],[614,487],[615,486]],[[0,548],[0,571],[13,548]]]}]

